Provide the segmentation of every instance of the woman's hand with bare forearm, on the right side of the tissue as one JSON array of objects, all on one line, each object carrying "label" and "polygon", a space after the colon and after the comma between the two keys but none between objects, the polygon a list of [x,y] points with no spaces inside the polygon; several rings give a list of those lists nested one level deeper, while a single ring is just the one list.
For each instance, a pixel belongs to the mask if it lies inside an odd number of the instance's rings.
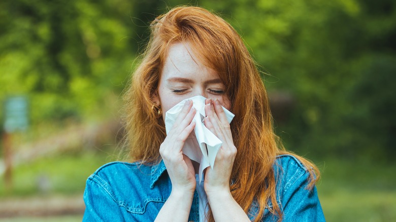
[{"label": "woman's hand with bare forearm, on the right side of the tissue", "polygon": [[213,169],[206,168],[204,180],[204,189],[213,218],[215,221],[250,221],[229,190],[229,179],[237,156],[237,148],[234,145],[227,117],[218,100],[207,99],[205,103],[205,126],[223,142],[217,152]]}]

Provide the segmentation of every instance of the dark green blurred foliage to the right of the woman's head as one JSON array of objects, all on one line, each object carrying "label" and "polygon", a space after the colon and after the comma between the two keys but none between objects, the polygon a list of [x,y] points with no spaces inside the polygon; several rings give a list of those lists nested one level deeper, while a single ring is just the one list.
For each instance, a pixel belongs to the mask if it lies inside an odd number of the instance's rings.
[{"label": "dark green blurred foliage to the right of the woman's head", "polygon": [[210,7],[232,15],[225,17],[268,73],[270,96],[293,97],[290,115],[275,119],[286,147],[311,157],[394,160],[394,2],[221,2]]}]

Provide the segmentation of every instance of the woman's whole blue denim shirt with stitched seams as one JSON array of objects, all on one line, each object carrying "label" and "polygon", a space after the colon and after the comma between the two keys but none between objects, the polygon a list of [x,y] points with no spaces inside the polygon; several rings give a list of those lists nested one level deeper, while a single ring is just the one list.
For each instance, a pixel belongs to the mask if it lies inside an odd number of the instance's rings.
[{"label": "woman's whole blue denim shirt with stitched seams", "polygon": [[[277,202],[283,212],[282,220],[325,221],[316,188],[307,189],[309,173],[306,168],[293,156],[281,155],[276,159],[274,170],[280,175]],[[171,190],[171,180],[162,161],[153,166],[108,163],[87,179],[83,221],[154,221]],[[189,221],[199,221],[198,198],[195,191]],[[269,207],[272,207],[271,202]],[[256,212],[258,206],[253,202],[248,212],[251,220]],[[266,208],[261,221],[277,220],[278,217]]]}]

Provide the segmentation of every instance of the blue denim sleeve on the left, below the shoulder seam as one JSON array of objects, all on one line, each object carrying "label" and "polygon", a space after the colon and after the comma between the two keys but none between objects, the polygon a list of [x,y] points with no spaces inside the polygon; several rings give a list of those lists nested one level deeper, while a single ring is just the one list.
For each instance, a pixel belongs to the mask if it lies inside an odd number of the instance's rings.
[{"label": "blue denim sleeve on the left, below the shoulder seam", "polygon": [[125,221],[110,186],[97,175],[87,179],[82,221]]}]

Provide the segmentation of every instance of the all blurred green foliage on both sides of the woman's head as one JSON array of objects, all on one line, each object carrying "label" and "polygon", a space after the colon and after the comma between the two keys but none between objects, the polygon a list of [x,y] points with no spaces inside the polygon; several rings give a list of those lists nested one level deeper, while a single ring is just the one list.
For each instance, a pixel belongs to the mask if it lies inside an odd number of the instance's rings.
[{"label": "all blurred green foliage on both sides of the woman's head", "polygon": [[291,95],[287,115],[274,114],[289,149],[394,159],[389,0],[2,1],[0,100],[28,95],[33,124],[106,118],[119,109],[150,22],[180,4],[219,12],[266,72],[270,95]]}]

